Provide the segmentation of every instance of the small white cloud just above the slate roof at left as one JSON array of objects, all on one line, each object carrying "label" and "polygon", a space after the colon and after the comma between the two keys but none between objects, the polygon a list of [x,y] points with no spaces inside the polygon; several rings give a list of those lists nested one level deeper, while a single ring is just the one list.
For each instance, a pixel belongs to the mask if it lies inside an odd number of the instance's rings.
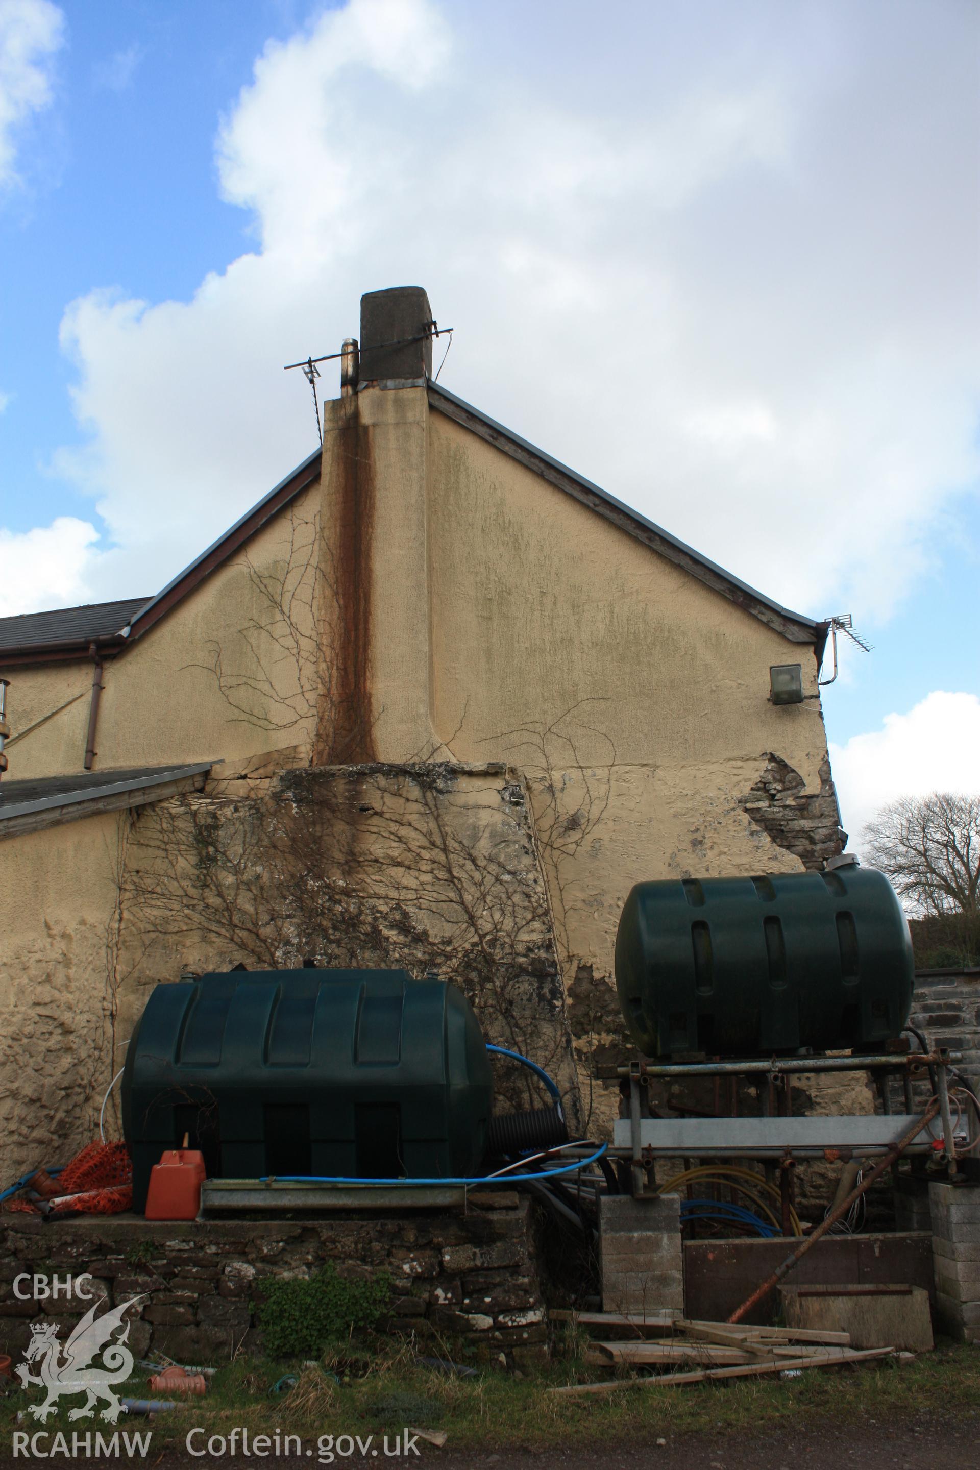
[{"label": "small white cloud just above the slate roof at left", "polygon": [[0,617],[87,601],[97,539],[96,528],[75,516],[24,532],[0,528]]}]

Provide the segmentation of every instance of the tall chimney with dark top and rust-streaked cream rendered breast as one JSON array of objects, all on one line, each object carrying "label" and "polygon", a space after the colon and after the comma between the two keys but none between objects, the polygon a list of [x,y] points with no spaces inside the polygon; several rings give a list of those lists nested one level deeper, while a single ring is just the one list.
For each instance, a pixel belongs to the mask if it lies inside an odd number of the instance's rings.
[{"label": "tall chimney with dark top and rust-streaked cream rendered breast", "polygon": [[426,529],[432,310],[422,287],[363,295],[359,347],[356,387],[347,382],[323,404],[317,764],[436,751]]}]

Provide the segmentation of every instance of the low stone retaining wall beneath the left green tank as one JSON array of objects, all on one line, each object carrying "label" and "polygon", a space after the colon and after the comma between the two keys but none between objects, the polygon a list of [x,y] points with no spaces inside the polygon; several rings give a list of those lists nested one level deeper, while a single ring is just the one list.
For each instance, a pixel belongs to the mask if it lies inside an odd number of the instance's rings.
[{"label": "low stone retaining wall beneath the left green tank", "polygon": [[63,1295],[19,1301],[15,1277],[90,1273],[91,1291],[107,1305],[144,1297],[129,1314],[137,1357],[159,1351],[217,1366],[237,1351],[262,1352],[256,1305],[263,1280],[310,1276],[332,1261],[348,1277],[388,1272],[389,1330],[461,1342],[480,1360],[504,1354],[516,1367],[544,1361],[548,1330],[530,1208],[514,1192],[486,1191],[469,1197],[466,1213],[398,1219],[159,1223],[115,1216],[43,1225],[37,1216],[0,1216],[0,1352],[16,1361],[38,1320],[57,1320],[65,1339],[90,1307]]}]

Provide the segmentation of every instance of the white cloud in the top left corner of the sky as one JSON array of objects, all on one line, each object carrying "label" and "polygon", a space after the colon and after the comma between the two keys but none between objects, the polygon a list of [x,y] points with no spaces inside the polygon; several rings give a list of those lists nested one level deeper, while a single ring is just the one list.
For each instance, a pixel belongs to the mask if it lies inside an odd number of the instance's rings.
[{"label": "white cloud in the top left corner of the sky", "polygon": [[18,129],[51,101],[65,16],[48,0],[0,0],[0,188],[16,181]]}]

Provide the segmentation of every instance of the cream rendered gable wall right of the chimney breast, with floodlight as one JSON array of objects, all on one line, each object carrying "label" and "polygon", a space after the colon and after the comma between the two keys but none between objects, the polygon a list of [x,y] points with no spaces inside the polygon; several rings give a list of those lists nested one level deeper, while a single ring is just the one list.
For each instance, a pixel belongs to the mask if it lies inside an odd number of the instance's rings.
[{"label": "cream rendered gable wall right of the chimney breast, with floodlight", "polygon": [[817,694],[813,648],[436,412],[428,504],[435,739],[523,767],[572,1028],[607,1058],[635,882],[793,872],[839,848],[820,701],[768,701],[776,663]]}]

